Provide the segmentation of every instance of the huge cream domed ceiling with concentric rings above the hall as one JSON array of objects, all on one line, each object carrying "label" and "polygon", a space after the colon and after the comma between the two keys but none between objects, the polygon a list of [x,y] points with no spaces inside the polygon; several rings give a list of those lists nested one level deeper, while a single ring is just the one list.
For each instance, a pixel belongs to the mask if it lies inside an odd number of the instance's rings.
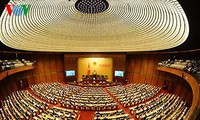
[{"label": "huge cream domed ceiling with concentric rings above the hall", "polygon": [[176,0],[15,0],[0,18],[1,42],[28,51],[154,51],[188,35]]}]

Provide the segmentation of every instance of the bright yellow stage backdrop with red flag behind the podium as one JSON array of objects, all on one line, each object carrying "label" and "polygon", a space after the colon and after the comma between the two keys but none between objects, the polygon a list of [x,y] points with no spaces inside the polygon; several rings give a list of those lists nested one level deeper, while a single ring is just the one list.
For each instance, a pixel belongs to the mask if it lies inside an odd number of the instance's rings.
[{"label": "bright yellow stage backdrop with red flag behind the podium", "polygon": [[108,81],[113,80],[113,59],[112,58],[78,58],[78,82],[82,75],[107,75]]}]

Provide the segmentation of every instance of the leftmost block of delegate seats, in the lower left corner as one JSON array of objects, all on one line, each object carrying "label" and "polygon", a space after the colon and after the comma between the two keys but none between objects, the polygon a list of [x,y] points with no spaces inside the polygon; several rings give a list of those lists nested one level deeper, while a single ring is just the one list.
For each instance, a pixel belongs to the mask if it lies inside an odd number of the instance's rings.
[{"label": "leftmost block of delegate seats, in the lower left corner", "polygon": [[48,109],[49,105],[33,97],[27,90],[12,92],[1,101],[1,113],[9,120],[25,120]]}]

